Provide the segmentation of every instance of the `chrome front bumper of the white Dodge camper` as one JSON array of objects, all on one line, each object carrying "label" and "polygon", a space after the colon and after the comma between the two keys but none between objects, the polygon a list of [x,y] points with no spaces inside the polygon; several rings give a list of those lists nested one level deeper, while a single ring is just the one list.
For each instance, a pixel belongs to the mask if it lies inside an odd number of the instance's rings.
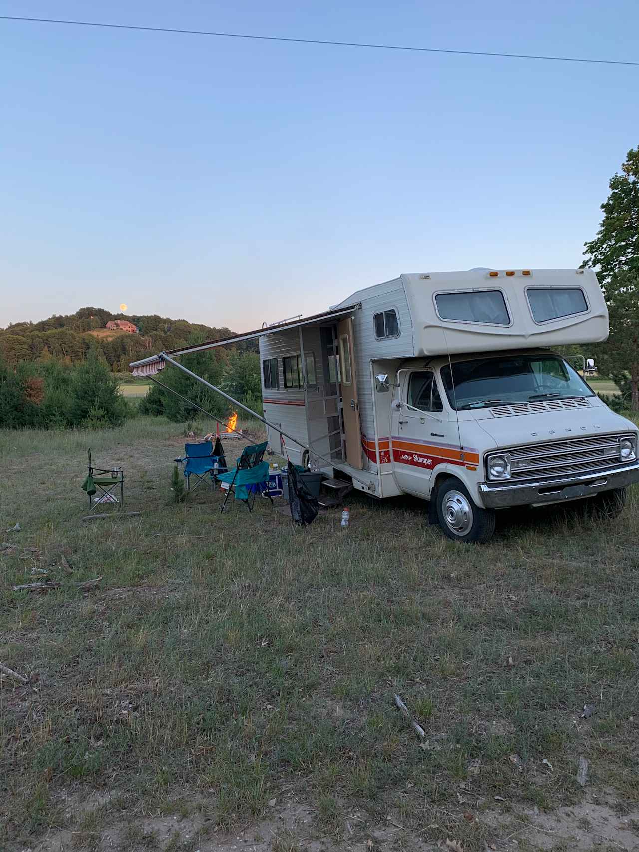
[{"label": "chrome front bumper of the white Dodge camper", "polygon": [[625,488],[639,482],[639,460],[624,467],[598,470],[594,474],[569,476],[566,479],[539,482],[500,482],[488,485],[480,482],[479,498],[486,509],[505,509],[508,506],[538,506],[546,503],[563,503],[592,497],[613,488]]}]

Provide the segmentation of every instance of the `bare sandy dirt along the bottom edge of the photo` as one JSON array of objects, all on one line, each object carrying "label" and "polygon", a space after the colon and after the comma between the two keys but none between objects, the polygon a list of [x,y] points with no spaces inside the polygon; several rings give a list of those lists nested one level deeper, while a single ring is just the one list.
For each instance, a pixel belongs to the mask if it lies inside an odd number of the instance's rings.
[{"label": "bare sandy dirt along the bottom edge of the photo", "polygon": [[[113,849],[122,852],[135,849],[167,852],[177,849],[192,852],[231,852],[234,849],[245,849],[246,852],[302,852],[302,849],[310,852],[333,852],[337,849],[350,852],[387,849],[389,852],[391,849],[435,852],[435,849],[450,848],[445,845],[446,838],[441,838],[439,843],[429,843],[417,833],[406,830],[397,820],[389,817],[383,825],[376,825],[360,811],[348,812],[343,826],[326,833],[314,809],[298,801],[273,807],[269,809],[269,815],[255,825],[230,833],[216,826],[215,820],[208,815],[210,810],[203,803],[200,803],[197,812],[187,816],[106,820],[91,830],[90,816],[108,807],[111,797],[108,793],[101,793],[85,800],[85,803],[89,802],[91,807],[80,815],[77,829],[49,832],[43,841],[29,850],[23,849],[23,852],[64,852],[70,848],[95,852]],[[607,804],[582,803],[552,813],[541,813],[537,809],[519,810],[514,818],[512,814],[491,812],[479,816],[479,820],[494,832],[494,841],[485,849],[527,849],[528,852],[545,849],[570,852],[622,849],[636,852],[639,849],[639,810],[619,816]],[[471,844],[460,848],[476,847]]]}]

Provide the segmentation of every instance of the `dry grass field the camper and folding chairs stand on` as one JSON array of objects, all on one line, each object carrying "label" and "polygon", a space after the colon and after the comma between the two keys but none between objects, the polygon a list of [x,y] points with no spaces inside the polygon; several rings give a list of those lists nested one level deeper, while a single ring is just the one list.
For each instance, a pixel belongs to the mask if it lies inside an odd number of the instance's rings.
[{"label": "dry grass field the camper and folding chairs stand on", "polygon": [[[639,848],[636,490],[481,546],[408,499],[302,530],[171,504],[183,442],[0,433],[0,662],[35,687],[0,678],[0,849]],[[142,515],[80,520],[87,446]]]}]

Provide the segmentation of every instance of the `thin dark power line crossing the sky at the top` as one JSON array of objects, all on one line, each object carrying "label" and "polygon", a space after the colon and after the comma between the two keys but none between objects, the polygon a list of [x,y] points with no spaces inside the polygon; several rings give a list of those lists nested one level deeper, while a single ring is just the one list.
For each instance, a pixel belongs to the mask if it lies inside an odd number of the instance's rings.
[{"label": "thin dark power line crossing the sky at the top", "polygon": [[108,30],[137,30],[140,32],[170,32],[183,36],[213,36],[216,38],[248,38],[261,42],[289,42],[293,44],[323,44],[340,48],[367,48],[375,50],[410,50],[414,53],[440,53],[461,56],[494,56],[500,59],[533,59],[544,62],[586,62],[590,65],[626,65],[639,67],[639,62],[613,59],[583,59],[577,56],[538,56],[529,54],[489,53],[486,50],[450,50],[443,48],[413,48],[401,44],[370,44],[365,42],[331,42],[320,38],[286,38],[283,36],[252,36],[241,32],[208,32],[206,30],[176,30],[164,26],[134,26],[133,24],[102,24],[92,20],[57,20],[55,18],[19,18],[1,14],[0,20],[23,20],[37,24],[66,24],[67,26],[98,26]]}]

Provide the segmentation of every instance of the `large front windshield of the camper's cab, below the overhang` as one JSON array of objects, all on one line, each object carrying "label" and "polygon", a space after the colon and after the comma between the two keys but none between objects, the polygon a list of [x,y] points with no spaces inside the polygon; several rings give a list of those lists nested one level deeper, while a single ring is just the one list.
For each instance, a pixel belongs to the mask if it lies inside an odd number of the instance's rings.
[{"label": "large front windshield of the camper's cab, below the overhang", "polygon": [[440,373],[448,401],[458,411],[498,403],[565,400],[595,395],[573,367],[550,354],[504,355],[461,361],[452,365],[452,376],[447,365],[441,368]]}]

